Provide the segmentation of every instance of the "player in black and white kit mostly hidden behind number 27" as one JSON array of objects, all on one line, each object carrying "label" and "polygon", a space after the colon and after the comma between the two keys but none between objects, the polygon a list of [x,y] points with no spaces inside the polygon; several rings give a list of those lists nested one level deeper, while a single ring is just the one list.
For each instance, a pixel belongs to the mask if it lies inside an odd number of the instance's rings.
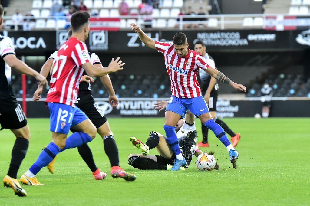
[{"label": "player in black and white kit mostly hidden behind number 27", "polygon": [[[68,38],[72,36],[72,30],[69,30],[68,32]],[[52,65],[54,59],[57,57],[57,51],[55,51],[51,56],[47,59],[46,63],[42,66],[41,74],[45,77],[48,76],[49,71],[52,72]],[[102,64],[100,62],[100,59],[98,58],[95,53],[88,52],[91,62],[99,67],[102,68]],[[118,99],[115,95],[111,79],[109,75],[104,75],[100,77],[101,82],[103,83],[104,87],[108,90],[109,93],[109,103],[112,105],[112,107],[116,107],[118,104]],[[86,72],[83,72],[82,80],[79,85],[79,91],[78,91],[78,98],[75,102],[75,106],[80,108],[82,112],[84,112],[91,122],[95,125],[97,128],[97,133],[100,134],[101,138],[104,142],[104,151],[107,154],[110,163],[111,163],[111,175],[113,178],[123,178],[126,181],[134,181],[136,176],[124,171],[119,166],[119,158],[118,158],[118,149],[115,142],[115,139],[113,137],[113,133],[110,129],[109,123],[107,118],[104,116],[104,113],[100,110],[97,103],[95,103],[94,97],[91,93],[91,85],[90,82],[93,82],[94,79],[88,75],[86,75]],[[39,101],[41,99],[40,94],[42,93],[42,87],[38,87],[38,89],[33,94],[33,100]],[[73,133],[78,132],[78,130],[70,129]],[[94,178],[96,180],[103,180],[106,177],[106,173],[103,173],[100,171],[100,169],[96,166],[92,152],[88,144],[83,144],[78,147],[78,152],[83,158],[83,160],[86,162],[87,166],[91,170],[91,172],[94,175]],[[54,163],[55,159],[50,162],[50,164],[47,165],[47,168],[51,173],[54,173]]]}]

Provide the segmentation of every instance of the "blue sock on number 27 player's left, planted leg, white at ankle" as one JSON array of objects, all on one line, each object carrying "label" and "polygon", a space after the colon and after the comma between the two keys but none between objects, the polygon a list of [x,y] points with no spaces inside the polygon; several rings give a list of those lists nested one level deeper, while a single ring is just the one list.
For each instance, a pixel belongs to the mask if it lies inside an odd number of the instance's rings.
[{"label": "blue sock on number 27 player's left, planted leg, white at ankle", "polygon": [[43,167],[47,166],[59,152],[59,147],[54,142],[50,142],[39,154],[38,159],[26,172],[26,175],[30,178],[34,177]]}]

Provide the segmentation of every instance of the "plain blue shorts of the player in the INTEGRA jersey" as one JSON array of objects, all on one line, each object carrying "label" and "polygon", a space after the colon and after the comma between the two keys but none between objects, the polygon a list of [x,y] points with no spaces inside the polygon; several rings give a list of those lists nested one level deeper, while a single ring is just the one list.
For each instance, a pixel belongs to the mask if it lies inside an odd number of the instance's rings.
[{"label": "plain blue shorts of the player in the INTEGRA jersey", "polygon": [[175,96],[170,97],[166,111],[175,112],[184,118],[187,110],[196,116],[209,112],[207,103],[202,96],[189,99],[177,98]]}]

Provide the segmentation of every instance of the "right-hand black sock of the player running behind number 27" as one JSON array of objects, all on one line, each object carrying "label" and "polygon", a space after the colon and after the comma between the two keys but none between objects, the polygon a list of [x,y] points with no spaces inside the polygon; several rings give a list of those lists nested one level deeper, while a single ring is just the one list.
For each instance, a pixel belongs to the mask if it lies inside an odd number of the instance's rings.
[{"label": "right-hand black sock of the player running behind number 27", "polygon": [[107,135],[102,139],[104,143],[104,151],[110,160],[111,167],[119,166],[118,149],[114,137],[112,135]]}]

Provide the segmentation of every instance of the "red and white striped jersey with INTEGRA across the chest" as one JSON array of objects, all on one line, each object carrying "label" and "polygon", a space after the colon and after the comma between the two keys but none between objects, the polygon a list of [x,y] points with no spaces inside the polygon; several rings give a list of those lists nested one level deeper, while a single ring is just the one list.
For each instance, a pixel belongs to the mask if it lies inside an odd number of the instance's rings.
[{"label": "red and white striped jersey with INTEGRA across the chest", "polygon": [[164,55],[172,95],[184,99],[201,96],[197,72],[199,68],[209,67],[207,60],[200,53],[190,49],[188,55],[178,57],[173,42],[155,42],[155,47]]}]

